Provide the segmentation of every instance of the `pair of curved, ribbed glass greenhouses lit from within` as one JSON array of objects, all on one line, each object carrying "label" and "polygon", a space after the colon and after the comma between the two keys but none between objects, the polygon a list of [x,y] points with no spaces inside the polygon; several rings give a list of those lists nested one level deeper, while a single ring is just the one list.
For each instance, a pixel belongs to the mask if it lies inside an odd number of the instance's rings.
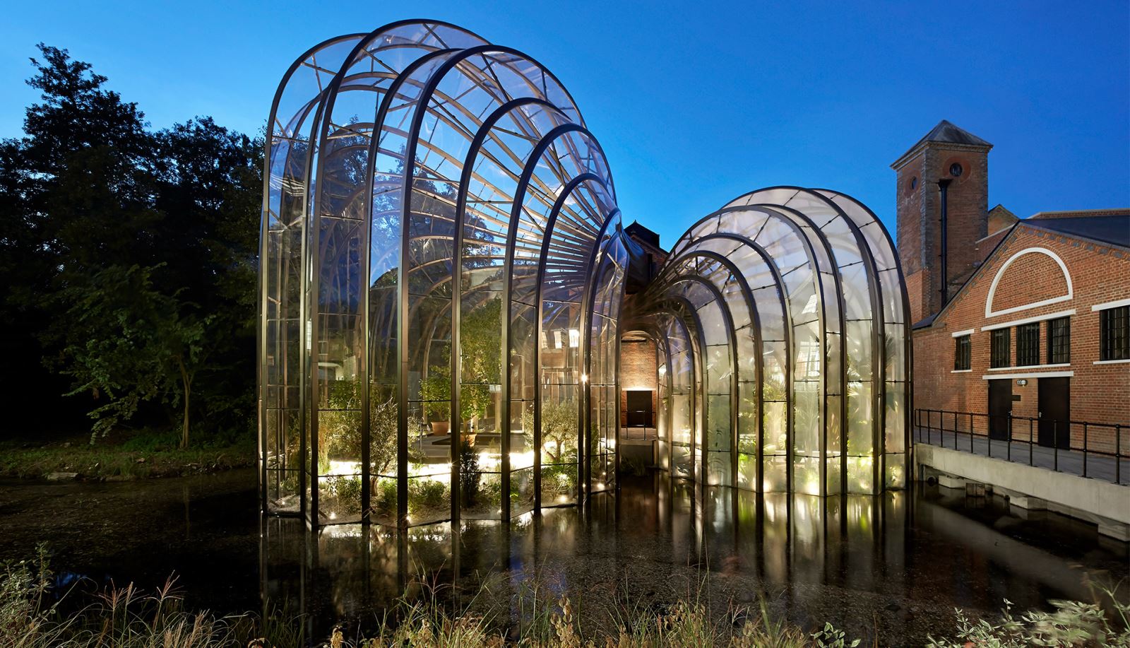
[{"label": "pair of curved, ribbed glass greenhouses lit from within", "polygon": [[[814,494],[903,484],[906,300],[853,199],[748,193],[651,278],[565,88],[437,21],[299,57],[267,146],[264,510],[415,526],[611,490],[628,331],[659,342],[672,474]],[[628,278],[645,287],[625,300]]]}]

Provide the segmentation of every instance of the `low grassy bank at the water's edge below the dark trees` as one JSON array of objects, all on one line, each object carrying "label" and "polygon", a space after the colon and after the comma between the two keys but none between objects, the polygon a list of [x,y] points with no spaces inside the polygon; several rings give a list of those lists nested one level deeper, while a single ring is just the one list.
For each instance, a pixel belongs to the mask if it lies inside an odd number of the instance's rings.
[{"label": "low grassy bank at the water's edge below the dark trees", "polygon": [[169,433],[118,435],[94,444],[89,434],[0,441],[0,477],[21,479],[125,482],[218,473],[254,463],[255,441],[250,434],[206,439],[185,450]]}]

